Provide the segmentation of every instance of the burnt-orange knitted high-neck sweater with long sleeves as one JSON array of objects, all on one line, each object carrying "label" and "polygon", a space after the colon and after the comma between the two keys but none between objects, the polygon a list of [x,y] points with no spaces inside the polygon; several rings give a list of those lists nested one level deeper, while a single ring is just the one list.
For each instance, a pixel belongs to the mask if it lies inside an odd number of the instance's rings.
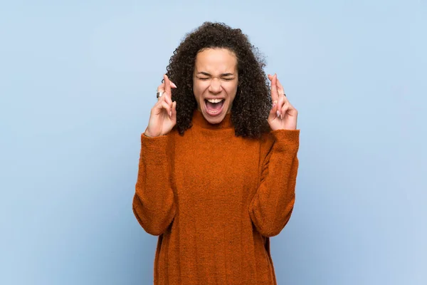
[{"label": "burnt-orange knitted high-neck sweater with long sleeves", "polygon": [[276,284],[270,240],[295,201],[300,130],[236,137],[199,111],[184,136],[141,136],[133,211],[159,235],[154,284]]}]

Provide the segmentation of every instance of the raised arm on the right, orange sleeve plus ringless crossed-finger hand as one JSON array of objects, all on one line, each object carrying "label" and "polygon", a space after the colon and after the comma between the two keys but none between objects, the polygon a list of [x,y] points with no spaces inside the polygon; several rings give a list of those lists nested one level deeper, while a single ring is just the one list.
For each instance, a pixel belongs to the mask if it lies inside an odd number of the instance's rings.
[{"label": "raised arm on the right, orange sleeve plus ringless crossed-finger hand", "polygon": [[286,97],[277,75],[268,78],[273,100],[268,123],[272,131],[265,144],[268,151],[249,213],[256,229],[263,236],[272,237],[288,223],[295,203],[300,130],[297,130],[297,110]]}]

